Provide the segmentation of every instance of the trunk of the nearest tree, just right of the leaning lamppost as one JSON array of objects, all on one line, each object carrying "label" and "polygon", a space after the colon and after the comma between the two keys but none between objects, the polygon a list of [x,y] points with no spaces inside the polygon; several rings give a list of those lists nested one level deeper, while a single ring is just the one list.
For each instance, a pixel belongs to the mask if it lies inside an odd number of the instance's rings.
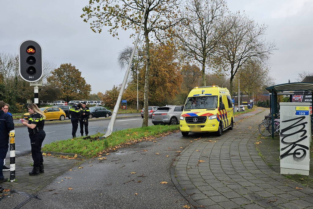
[{"label": "trunk of the nearest tree, just right of the leaning lamppost", "polygon": [[146,38],[146,75],[145,75],[145,90],[143,97],[143,121],[142,127],[148,126],[148,96],[149,96],[149,68],[150,68],[150,47],[149,47],[149,37],[145,24],[145,38]]}]

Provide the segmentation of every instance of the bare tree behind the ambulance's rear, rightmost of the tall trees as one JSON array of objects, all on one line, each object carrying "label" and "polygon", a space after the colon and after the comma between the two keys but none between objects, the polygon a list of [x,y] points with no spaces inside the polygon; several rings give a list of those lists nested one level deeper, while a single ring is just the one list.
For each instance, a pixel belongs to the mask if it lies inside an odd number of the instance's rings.
[{"label": "bare tree behind the ambulance's rear, rightmost of the tall trees", "polygon": [[224,24],[232,27],[221,39],[218,53],[229,64],[229,90],[233,95],[233,79],[237,71],[249,61],[267,60],[275,49],[275,43],[264,38],[266,25],[259,25],[239,12],[230,14]]}]

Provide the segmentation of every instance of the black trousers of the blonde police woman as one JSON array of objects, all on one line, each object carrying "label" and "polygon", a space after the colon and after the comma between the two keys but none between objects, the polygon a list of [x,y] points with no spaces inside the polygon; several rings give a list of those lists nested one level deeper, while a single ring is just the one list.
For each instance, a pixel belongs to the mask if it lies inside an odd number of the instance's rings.
[{"label": "black trousers of the blonde police woman", "polygon": [[39,130],[39,133],[29,135],[30,146],[32,147],[32,158],[34,161],[34,167],[39,167],[44,162],[41,154],[41,145],[46,137],[46,133],[43,129]]}]

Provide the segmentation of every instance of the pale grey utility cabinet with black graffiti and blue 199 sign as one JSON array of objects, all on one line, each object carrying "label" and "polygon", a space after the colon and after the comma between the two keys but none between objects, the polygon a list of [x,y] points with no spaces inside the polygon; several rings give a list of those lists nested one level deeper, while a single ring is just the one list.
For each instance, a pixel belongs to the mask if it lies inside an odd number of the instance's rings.
[{"label": "pale grey utility cabinet with black graffiti and blue 199 sign", "polygon": [[309,175],[310,103],[280,102],[280,173]]}]

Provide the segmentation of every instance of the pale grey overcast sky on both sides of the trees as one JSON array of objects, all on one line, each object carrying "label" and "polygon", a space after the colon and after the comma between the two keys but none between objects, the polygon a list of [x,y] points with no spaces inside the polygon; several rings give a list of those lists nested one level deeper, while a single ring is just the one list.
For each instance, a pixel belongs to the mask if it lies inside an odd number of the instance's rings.
[{"label": "pale grey overcast sky on both sides of the trees", "polygon": [[[118,52],[131,45],[131,31],[119,40],[103,29],[90,30],[80,15],[88,0],[1,1],[0,51],[18,54],[25,39],[43,47],[44,58],[57,67],[72,63],[91,84],[92,93],[104,92],[123,81]],[[267,24],[267,40],[278,50],[271,56],[271,74],[277,84],[295,82],[298,72],[312,71],[313,0],[228,0],[231,11],[245,11],[258,23]]]}]

